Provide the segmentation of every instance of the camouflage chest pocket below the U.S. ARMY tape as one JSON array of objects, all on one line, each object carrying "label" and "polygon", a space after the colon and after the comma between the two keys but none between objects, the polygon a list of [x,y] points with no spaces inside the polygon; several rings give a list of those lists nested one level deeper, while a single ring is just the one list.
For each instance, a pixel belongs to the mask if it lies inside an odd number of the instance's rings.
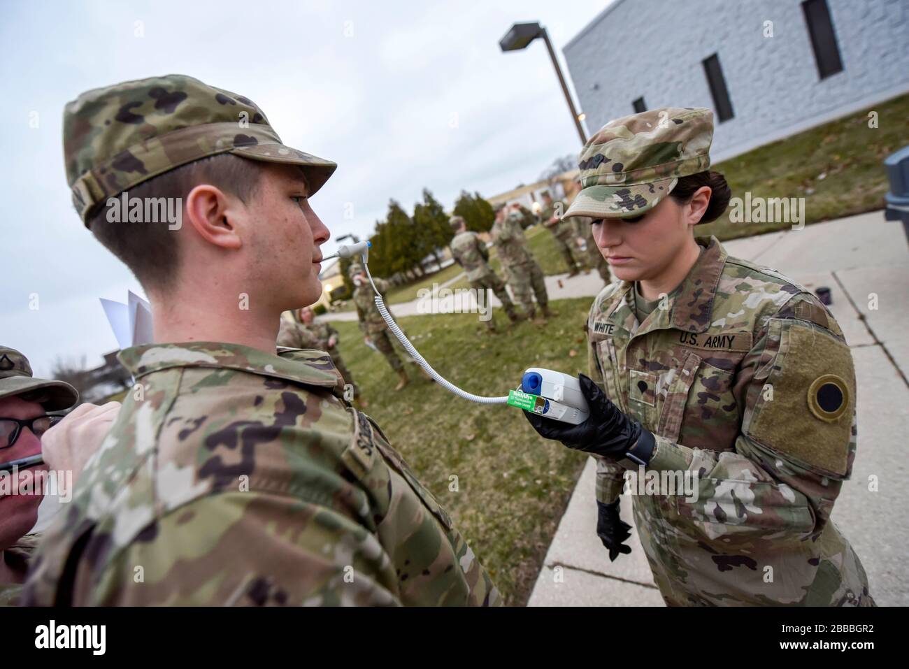
[{"label": "camouflage chest pocket below the U.S. ARMY tape", "polygon": [[734,372],[690,352],[669,386],[660,434],[690,448],[733,448],[740,423],[734,380]]}]

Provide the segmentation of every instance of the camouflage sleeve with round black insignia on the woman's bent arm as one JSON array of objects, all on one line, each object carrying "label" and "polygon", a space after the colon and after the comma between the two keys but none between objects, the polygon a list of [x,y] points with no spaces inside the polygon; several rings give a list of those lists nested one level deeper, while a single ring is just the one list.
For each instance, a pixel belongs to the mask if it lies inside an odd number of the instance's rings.
[{"label": "camouflage sleeve with round black insignia on the woman's bent arm", "polygon": [[818,536],[852,472],[855,375],[839,325],[813,295],[795,295],[761,319],[735,397],[744,412],[734,451],[657,435],[648,469],[698,474],[698,500],[679,502],[694,522],[713,518],[794,541]]}]

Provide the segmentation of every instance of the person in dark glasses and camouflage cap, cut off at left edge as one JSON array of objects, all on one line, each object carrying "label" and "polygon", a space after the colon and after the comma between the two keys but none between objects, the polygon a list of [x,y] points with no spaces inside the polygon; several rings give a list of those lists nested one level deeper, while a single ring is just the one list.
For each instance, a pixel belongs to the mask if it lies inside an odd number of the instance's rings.
[{"label": "person in dark glasses and camouflage cap, cut off at left edge", "polygon": [[[68,409],[78,400],[72,385],[33,378],[25,355],[0,346],[0,464],[40,454],[41,437],[59,420],[47,412]],[[0,478],[0,606],[18,604],[38,542],[37,535],[26,533],[35,527],[45,492],[35,489],[34,474],[47,470],[46,464],[16,467],[20,494],[12,494],[12,471]],[[30,494],[21,494],[25,490]]]}]

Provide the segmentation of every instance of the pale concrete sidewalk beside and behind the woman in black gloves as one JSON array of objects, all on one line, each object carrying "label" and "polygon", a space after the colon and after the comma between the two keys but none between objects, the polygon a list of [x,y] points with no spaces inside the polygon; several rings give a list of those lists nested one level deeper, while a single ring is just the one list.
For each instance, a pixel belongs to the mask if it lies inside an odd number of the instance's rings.
[{"label": "pale concrete sidewalk beside and behind the woman in black gloves", "polygon": [[[812,290],[831,289],[831,311],[853,349],[858,383],[858,453],[833,517],[862,559],[877,603],[909,604],[909,249],[902,225],[873,212],[724,246]],[[609,562],[595,534],[594,474],[589,460],[528,604],[663,605],[636,531],[632,553]],[[870,492],[874,477],[877,491]],[[627,496],[622,516],[634,527]]]}]

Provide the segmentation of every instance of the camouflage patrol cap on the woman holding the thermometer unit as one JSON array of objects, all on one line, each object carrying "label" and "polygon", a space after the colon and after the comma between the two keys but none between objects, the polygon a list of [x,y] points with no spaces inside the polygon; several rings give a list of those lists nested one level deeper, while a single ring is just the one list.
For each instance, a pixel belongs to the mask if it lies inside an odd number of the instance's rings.
[{"label": "camouflage patrol cap on the woman holding the thermometer unit", "polygon": [[664,107],[610,121],[581,151],[582,189],[563,218],[644,214],[678,177],[710,167],[713,137],[714,113],[704,107]]}]

